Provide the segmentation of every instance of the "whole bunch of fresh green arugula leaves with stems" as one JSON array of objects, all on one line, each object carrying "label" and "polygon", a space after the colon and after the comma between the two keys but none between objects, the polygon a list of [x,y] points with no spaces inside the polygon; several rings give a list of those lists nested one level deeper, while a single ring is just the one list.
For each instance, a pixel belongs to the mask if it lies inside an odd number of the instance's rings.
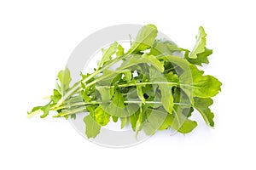
[{"label": "whole bunch of fresh green arugula leaves with stems", "polygon": [[81,73],[72,87],[68,68],[60,71],[49,103],[34,107],[28,116],[43,112],[44,118],[56,111],[54,117],[76,118],[89,112],[84,116],[88,138],[96,138],[111,119],[120,120],[121,128],[130,123],[136,133],[152,135],[167,128],[189,133],[197,126],[189,119],[194,110],[213,127],[209,106],[221,82],[197,67],[208,64],[212,54],[206,48],[206,32],[199,28],[192,50],[156,39],[157,32],[154,25],[143,26],[127,52],[118,42],[102,49],[95,71]]}]

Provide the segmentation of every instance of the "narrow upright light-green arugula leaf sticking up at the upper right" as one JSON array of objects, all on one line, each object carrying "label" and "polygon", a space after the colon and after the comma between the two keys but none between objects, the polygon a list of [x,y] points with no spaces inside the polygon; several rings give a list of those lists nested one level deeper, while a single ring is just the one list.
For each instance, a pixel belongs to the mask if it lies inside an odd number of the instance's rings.
[{"label": "narrow upright light-green arugula leaf sticking up at the upper right", "polygon": [[202,26],[199,27],[198,35],[196,37],[196,42],[193,50],[189,54],[190,59],[196,59],[197,54],[201,54],[205,51],[207,44],[207,34]]}]

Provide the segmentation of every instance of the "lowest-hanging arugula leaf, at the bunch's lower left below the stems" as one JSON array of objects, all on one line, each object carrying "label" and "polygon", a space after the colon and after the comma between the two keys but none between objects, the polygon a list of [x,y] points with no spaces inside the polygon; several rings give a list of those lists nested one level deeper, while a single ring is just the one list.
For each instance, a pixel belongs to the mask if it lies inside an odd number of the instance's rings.
[{"label": "lowest-hanging arugula leaf, at the bunch's lower left below the stems", "polygon": [[94,120],[91,114],[84,116],[84,123],[86,127],[85,134],[87,138],[96,138],[98,133],[101,131],[101,126]]}]

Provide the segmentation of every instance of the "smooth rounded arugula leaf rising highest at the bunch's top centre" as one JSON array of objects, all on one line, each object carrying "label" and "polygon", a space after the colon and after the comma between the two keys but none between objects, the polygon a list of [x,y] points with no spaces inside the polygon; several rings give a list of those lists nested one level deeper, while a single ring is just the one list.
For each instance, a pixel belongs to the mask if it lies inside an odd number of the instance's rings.
[{"label": "smooth rounded arugula leaf rising highest at the bunch's top centre", "polygon": [[143,26],[138,32],[136,40],[132,43],[127,54],[133,52],[144,51],[153,46],[155,37],[157,36],[157,28],[154,25]]}]

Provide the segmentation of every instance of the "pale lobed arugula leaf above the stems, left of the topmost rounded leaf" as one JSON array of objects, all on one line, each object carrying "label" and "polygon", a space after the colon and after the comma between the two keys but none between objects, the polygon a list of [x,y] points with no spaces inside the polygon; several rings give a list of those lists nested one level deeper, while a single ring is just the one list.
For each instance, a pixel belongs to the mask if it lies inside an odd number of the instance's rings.
[{"label": "pale lobed arugula leaf above the stems, left of the topmost rounded leaf", "polygon": [[116,53],[116,50],[118,48],[118,42],[113,42],[108,48],[102,49],[102,59],[99,62],[98,66],[102,67],[105,62],[109,61],[113,54]]}]

